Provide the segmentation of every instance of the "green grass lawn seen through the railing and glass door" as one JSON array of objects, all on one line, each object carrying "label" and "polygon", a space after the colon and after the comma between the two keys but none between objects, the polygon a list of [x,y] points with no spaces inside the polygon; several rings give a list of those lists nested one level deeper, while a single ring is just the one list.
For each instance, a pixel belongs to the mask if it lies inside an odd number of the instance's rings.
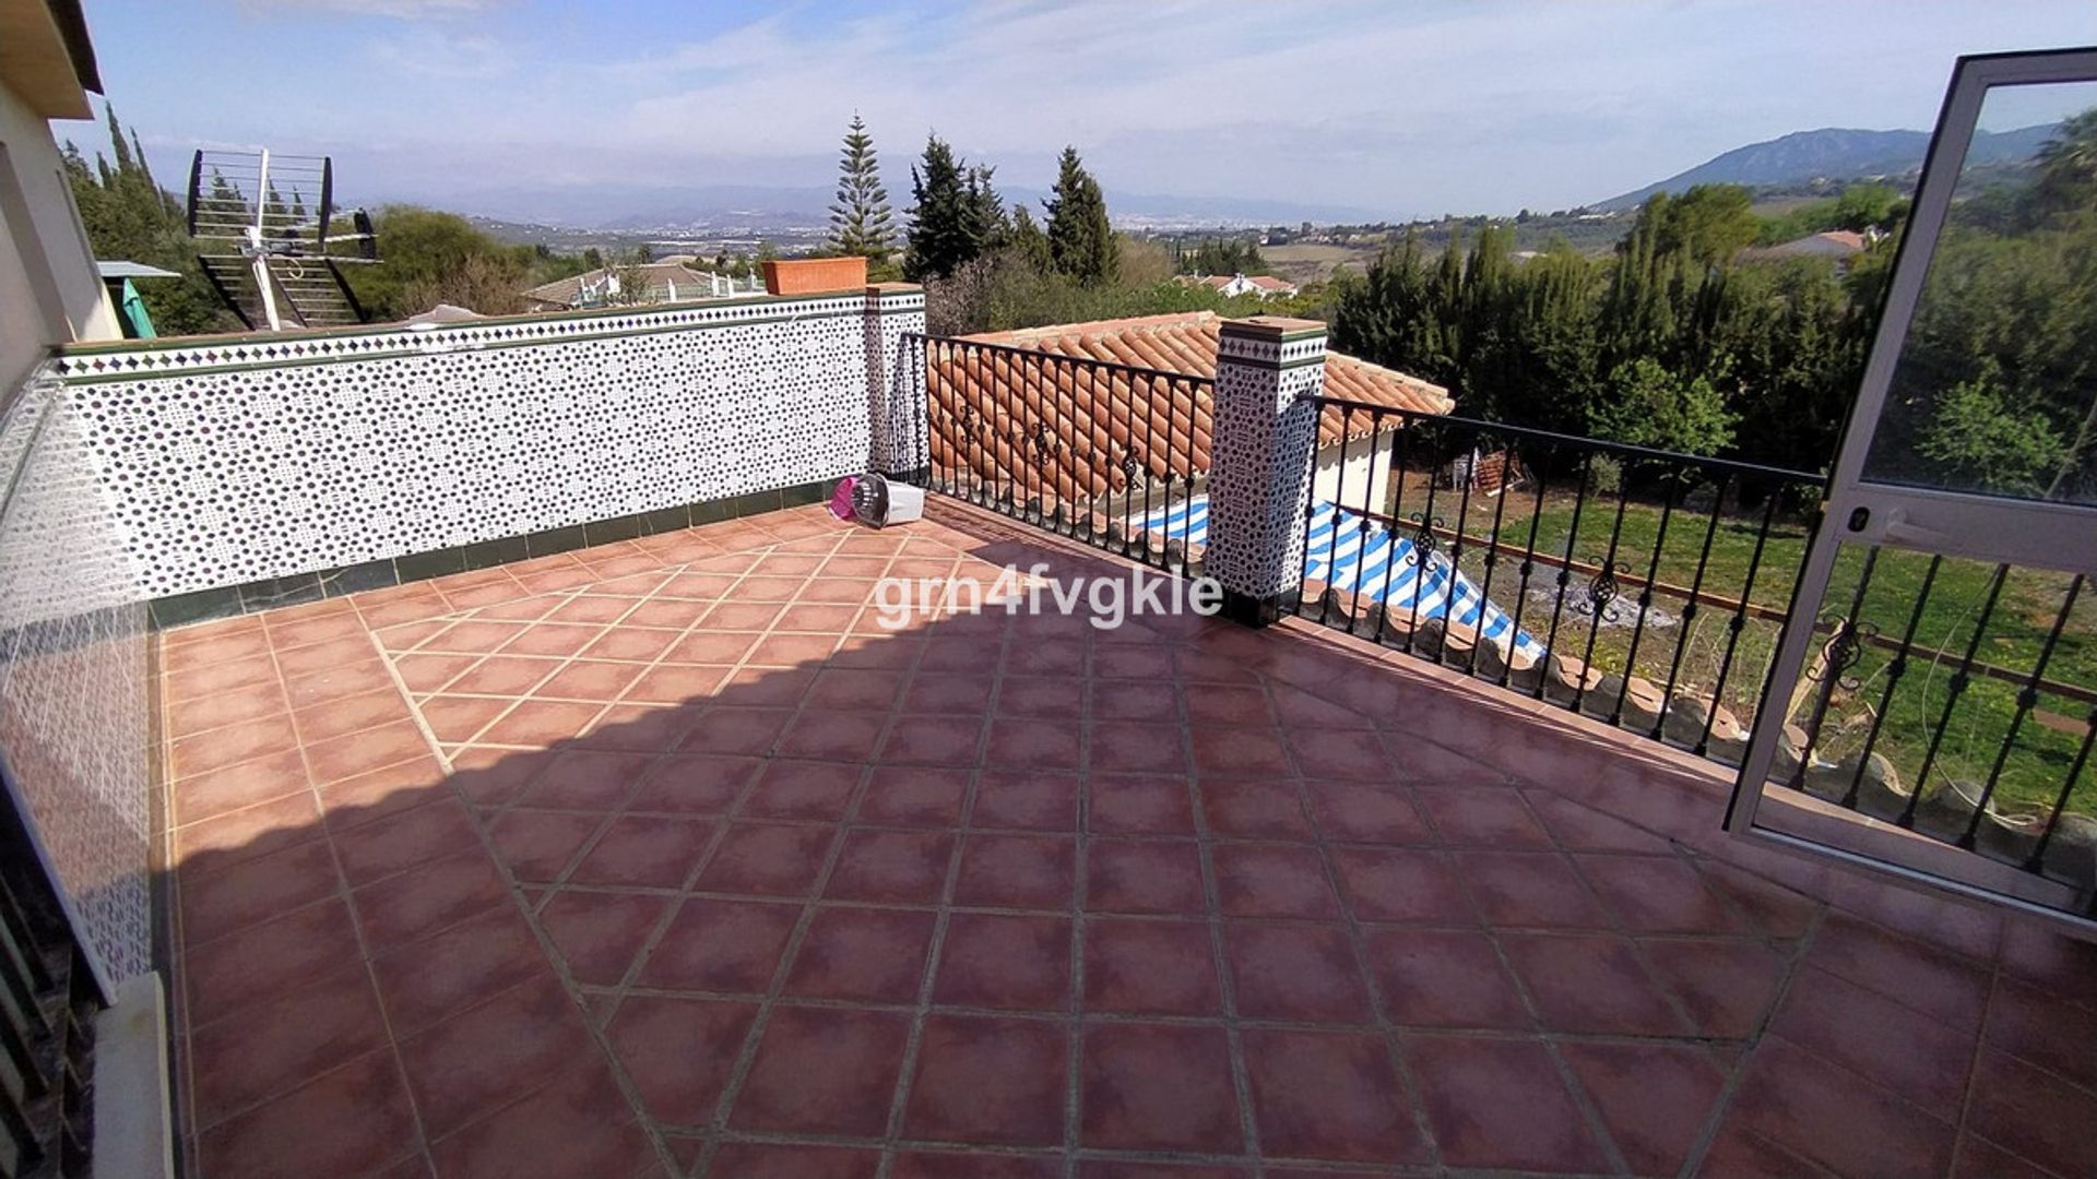
[{"label": "green grass lawn seen through the railing and glass door", "polygon": [[[1424,483],[1407,483],[1397,514],[1413,516],[1428,512],[1428,489]],[[1806,556],[1808,527],[1797,516],[1778,514],[1764,531],[1761,506],[1726,506],[1713,512],[1707,501],[1694,510],[1676,506],[1663,512],[1657,497],[1590,495],[1587,503],[1575,508],[1575,495],[1566,491],[1545,491],[1541,503],[1535,489],[1518,489],[1504,499],[1472,497],[1462,503],[1460,493],[1439,489],[1432,493],[1432,516],[1455,527],[1464,516],[1466,537],[1495,535],[1506,545],[1533,548],[1539,556],[1571,556],[1585,564],[1613,564],[1619,577],[1655,579],[1673,587],[1696,585],[1705,594],[1728,600],[1747,600],[1757,606],[1782,613],[1797,581]],[[1577,527],[1575,527],[1577,514]],[[1497,520],[1495,520],[1497,516]],[[1663,520],[1665,516],[1665,520]],[[1665,524],[1665,531],[1663,531]],[[1707,552],[1709,537],[1709,552]],[[1447,552],[1447,548],[1445,548]],[[1615,623],[1594,625],[1587,610],[1585,573],[1569,577],[1562,606],[1558,606],[1558,571],[1537,564],[1525,583],[1518,573],[1520,558],[1504,556],[1491,571],[1483,552],[1472,545],[1462,554],[1464,571],[1491,587],[1487,594],[1510,615],[1520,608],[1520,625],[1539,642],[1552,642],[1556,650],[1585,659],[1592,644],[1592,665],[1606,671],[1623,671],[1625,663],[1638,676],[1665,686],[1673,671],[1678,690],[1717,694],[1741,722],[1749,722],[1757,707],[1761,684],[1774,659],[1778,623],[1745,617],[1734,642],[1734,610],[1720,604],[1703,604],[1694,617],[1684,619],[1686,598],[1669,592],[1655,592],[1655,613],[1646,615],[1646,625],[1638,625],[1636,585],[1623,585],[1615,602]],[[1864,571],[1866,550],[1845,545],[1837,560],[1835,577],[1826,592],[1822,619],[1845,617],[1852,610],[1860,629],[1877,631],[1883,638],[1900,640],[1915,621],[1912,646],[1904,673],[1887,696],[1889,667],[1896,652],[1866,644],[1856,665],[1837,680],[1826,701],[1826,720],[1816,745],[1818,757],[1841,759],[1858,753],[1879,726],[1873,749],[1885,755],[1900,780],[1917,783],[1923,762],[1929,757],[1931,736],[1942,730],[1929,778],[1933,783],[1961,780],[1980,787],[1994,770],[1996,751],[2015,724],[2015,743],[2003,764],[1996,785],[1998,810],[2051,808],[2068,780],[2068,770],[2091,722],[2091,705],[2057,692],[2038,692],[2030,713],[2017,722],[2017,694],[2022,680],[2032,673],[2047,636],[2055,625],[2066,600],[2068,575],[2045,571],[2011,571],[2003,579],[1994,608],[1988,610],[1986,629],[1975,646],[1975,661],[2011,671],[2017,682],[2003,682],[1973,676],[1957,696],[1946,720],[1946,703],[1952,699],[1950,684],[1973,642],[1975,625],[1984,613],[1994,566],[1946,558],[1929,579],[1931,558],[1900,550],[1881,550],[1871,569],[1871,579],[1858,600],[1858,579]],[[1699,577],[1701,569],[1701,577]],[[1923,598],[1925,579],[1929,594]],[[1923,600],[1917,615],[1917,600]],[[1552,636],[1556,613],[1556,636]],[[1634,657],[1636,642],[1636,657]],[[1728,646],[1732,657],[1728,661]],[[1680,648],[1680,665],[1676,665]],[[2070,613],[2061,638],[2045,667],[2051,682],[2097,690],[2097,590],[2084,587]],[[1818,703],[1820,686],[1799,701],[1793,720],[1806,724]],[[1883,720],[1877,720],[1883,713]],[[2097,766],[2084,766],[2078,774],[2070,810],[2097,814]]]}]

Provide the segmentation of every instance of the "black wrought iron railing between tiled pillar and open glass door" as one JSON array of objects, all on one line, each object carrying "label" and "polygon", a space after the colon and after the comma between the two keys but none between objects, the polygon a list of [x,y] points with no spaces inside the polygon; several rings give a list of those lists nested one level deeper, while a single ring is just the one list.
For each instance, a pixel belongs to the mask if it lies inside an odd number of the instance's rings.
[{"label": "black wrought iron railing between tiled pillar and open glass door", "polygon": [[1820,476],[1313,401],[1298,615],[1738,764]]}]

